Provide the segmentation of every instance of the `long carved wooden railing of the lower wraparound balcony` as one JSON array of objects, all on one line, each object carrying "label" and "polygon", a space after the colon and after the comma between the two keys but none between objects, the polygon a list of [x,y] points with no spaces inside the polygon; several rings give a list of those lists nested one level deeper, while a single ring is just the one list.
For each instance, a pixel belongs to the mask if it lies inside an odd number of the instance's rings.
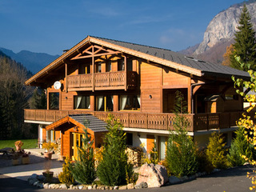
[{"label": "long carved wooden railing of the lower wraparound balcony", "polygon": [[[55,122],[68,114],[93,114],[95,117],[106,120],[108,114],[114,114],[125,127],[174,130],[175,114],[145,114],[140,112],[99,112],[82,110],[25,110],[24,119],[29,121]],[[224,129],[236,126],[236,121],[242,112],[226,112],[216,114],[182,114],[189,122],[188,131]]]}]

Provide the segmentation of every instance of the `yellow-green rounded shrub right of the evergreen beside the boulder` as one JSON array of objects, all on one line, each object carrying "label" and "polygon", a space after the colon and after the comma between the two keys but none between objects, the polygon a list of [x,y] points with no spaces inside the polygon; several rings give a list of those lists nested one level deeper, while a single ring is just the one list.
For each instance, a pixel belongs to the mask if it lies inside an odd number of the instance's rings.
[{"label": "yellow-green rounded shrub right of the evergreen beside the boulder", "polygon": [[209,144],[206,149],[206,157],[213,168],[226,169],[228,161],[226,158],[226,143],[222,134],[212,133],[209,138]]}]

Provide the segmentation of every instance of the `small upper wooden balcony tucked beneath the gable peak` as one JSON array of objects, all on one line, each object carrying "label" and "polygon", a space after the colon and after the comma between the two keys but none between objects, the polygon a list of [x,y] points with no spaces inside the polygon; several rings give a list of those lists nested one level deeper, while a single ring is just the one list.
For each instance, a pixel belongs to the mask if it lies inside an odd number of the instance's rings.
[{"label": "small upper wooden balcony tucked beneath the gable peak", "polygon": [[67,76],[67,89],[76,90],[126,90],[136,86],[137,72],[117,71]]}]

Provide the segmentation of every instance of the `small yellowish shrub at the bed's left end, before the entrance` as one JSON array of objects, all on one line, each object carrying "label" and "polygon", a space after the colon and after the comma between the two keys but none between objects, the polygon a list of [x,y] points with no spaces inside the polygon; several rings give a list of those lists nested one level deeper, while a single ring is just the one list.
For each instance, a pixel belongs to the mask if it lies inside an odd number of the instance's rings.
[{"label": "small yellowish shrub at the bed's left end, before the entrance", "polygon": [[62,183],[66,183],[67,185],[71,185],[74,183],[73,174],[70,171],[70,158],[66,157],[65,163],[62,165],[62,172],[58,174],[58,180]]}]

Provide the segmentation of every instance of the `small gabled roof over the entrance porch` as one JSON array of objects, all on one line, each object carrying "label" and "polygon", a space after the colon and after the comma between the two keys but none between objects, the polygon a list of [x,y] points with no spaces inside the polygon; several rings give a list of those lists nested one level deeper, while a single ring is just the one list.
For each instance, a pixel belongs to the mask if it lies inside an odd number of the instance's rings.
[{"label": "small gabled roof over the entrance porch", "polygon": [[[84,123],[86,122],[86,126]],[[75,126],[83,128],[89,128],[89,134],[93,132],[106,132],[106,122],[94,117],[92,114],[69,114],[65,118],[61,118],[56,122],[46,126],[46,130],[54,130],[58,126],[62,126],[65,123],[73,123]]]}]

